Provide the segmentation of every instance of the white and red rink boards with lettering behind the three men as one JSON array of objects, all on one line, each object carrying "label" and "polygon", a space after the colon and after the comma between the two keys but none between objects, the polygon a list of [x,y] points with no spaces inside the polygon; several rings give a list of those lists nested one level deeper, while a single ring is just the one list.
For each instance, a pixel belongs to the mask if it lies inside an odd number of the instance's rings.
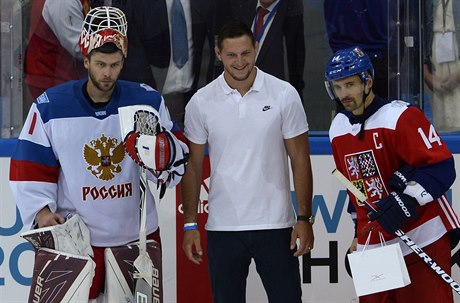
[{"label": "white and red rink boards with lettering behind the three men", "polygon": [[[457,171],[460,157],[455,155]],[[345,256],[353,237],[353,225],[346,212],[348,198],[345,188],[331,175],[334,162],[331,155],[312,155],[314,176],[313,213],[315,248],[300,258],[304,303],[358,302],[353,281],[345,267]],[[163,249],[163,294],[165,303],[211,303],[211,291],[206,262],[207,193],[209,162],[204,164],[204,176],[199,202],[198,224],[205,251],[204,262],[191,263],[182,251],[183,218],[180,187],[167,191],[159,209]],[[8,185],[9,158],[0,158],[0,301],[26,302],[33,274],[34,252],[31,244],[20,238],[24,231]],[[448,196],[460,213],[459,182]],[[152,187],[154,188],[154,187]],[[460,252],[452,254],[453,272],[460,280]],[[280,277],[282,279],[283,277]],[[456,296],[455,302],[460,302]],[[254,264],[248,276],[247,302],[266,303],[267,297]]]}]

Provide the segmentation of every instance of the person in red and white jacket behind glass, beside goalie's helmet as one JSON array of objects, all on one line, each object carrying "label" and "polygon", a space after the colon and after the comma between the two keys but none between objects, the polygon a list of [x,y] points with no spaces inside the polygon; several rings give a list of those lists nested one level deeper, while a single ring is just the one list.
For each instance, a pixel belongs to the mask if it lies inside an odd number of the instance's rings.
[{"label": "person in red and white jacket behind glass, beside goalie's helmet", "polygon": [[[46,89],[85,76],[78,46],[89,0],[33,2],[25,82],[33,99]],[[27,101],[27,107],[33,100]]]}]

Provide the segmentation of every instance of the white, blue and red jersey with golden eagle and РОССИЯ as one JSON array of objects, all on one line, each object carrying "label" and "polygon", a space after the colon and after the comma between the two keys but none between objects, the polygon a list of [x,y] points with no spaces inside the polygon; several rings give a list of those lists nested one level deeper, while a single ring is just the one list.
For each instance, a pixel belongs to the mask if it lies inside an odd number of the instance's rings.
[{"label": "white, blue and red jersey with golden eagle and \u0420\u041e\u0421\u0421\u0418\u042f", "polygon": [[[83,95],[86,82],[51,88],[33,103],[11,158],[10,185],[26,228],[48,205],[64,217],[78,213],[93,246],[123,245],[139,237],[140,173],[125,154],[118,108],[151,105],[162,126],[173,123],[161,95],[145,84],[117,81],[111,100],[95,109]],[[151,233],[158,218],[149,191],[147,197]]]}]

